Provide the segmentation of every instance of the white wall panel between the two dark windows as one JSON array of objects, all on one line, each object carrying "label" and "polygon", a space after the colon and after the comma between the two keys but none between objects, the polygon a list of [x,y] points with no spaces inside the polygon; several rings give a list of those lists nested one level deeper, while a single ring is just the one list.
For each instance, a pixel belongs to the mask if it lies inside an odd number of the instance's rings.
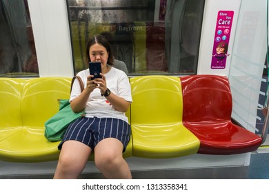
[{"label": "white wall panel between the two dark windows", "polygon": [[66,0],[28,0],[40,77],[72,77]]}]

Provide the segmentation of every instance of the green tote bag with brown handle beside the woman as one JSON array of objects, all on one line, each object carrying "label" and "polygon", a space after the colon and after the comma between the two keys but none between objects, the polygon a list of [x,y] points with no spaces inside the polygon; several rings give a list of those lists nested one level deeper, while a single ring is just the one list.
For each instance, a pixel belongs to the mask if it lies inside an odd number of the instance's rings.
[{"label": "green tote bag with brown handle beside the woman", "polygon": [[[81,92],[84,89],[81,78],[76,76],[72,79],[72,85],[74,83],[74,79],[79,80],[79,84],[81,87]],[[84,111],[74,113],[71,109],[69,99],[59,99],[60,103],[59,112],[54,114],[48,121],[45,122],[45,137],[48,141],[61,141],[63,135],[68,128],[68,125],[73,121],[77,120],[79,117],[84,115]]]}]

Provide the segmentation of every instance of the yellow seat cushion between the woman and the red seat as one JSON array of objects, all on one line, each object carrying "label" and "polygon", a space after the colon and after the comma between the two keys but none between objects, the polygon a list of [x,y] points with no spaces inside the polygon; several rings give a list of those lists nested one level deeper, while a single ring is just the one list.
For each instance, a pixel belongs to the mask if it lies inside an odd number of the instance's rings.
[{"label": "yellow seat cushion between the woman and the red seat", "polygon": [[132,125],[133,156],[174,158],[196,154],[199,140],[182,123]]}]

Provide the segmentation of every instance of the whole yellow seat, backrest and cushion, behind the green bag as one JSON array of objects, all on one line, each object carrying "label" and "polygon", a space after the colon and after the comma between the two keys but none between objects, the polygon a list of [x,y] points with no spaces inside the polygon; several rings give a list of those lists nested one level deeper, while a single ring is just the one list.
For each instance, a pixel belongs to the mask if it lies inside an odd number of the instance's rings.
[{"label": "whole yellow seat, backrest and cushion, behind the green bag", "polygon": [[2,160],[41,162],[58,159],[59,142],[47,141],[44,137],[44,122],[59,110],[57,99],[69,98],[70,81],[69,78],[25,81],[20,105],[22,128],[0,142]]}]

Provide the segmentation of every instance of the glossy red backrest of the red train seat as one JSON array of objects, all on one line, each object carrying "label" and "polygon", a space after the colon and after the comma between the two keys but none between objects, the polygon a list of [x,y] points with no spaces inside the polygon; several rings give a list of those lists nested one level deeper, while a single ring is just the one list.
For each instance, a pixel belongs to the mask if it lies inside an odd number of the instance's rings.
[{"label": "glossy red backrest of the red train seat", "polygon": [[231,119],[232,94],[227,77],[194,75],[181,77],[183,121]]}]

